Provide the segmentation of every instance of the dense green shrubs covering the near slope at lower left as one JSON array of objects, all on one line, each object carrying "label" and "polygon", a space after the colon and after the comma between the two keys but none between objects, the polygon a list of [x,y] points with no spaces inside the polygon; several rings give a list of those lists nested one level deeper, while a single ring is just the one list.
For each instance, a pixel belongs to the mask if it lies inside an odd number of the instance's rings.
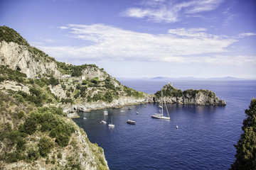
[{"label": "dense green shrubs covering the near slope at lower left", "polygon": [[[34,89],[33,93],[38,91]],[[0,152],[1,160],[9,163],[19,160],[34,161],[39,157],[47,157],[54,147],[65,147],[69,144],[75,126],[65,120],[61,108],[45,106],[35,111],[35,108],[28,110],[28,103],[20,103],[1,91],[0,101],[1,114],[11,121],[0,126],[1,149],[4,149],[4,152]],[[28,142],[38,133],[49,134],[51,138],[43,135],[39,140]]]}]

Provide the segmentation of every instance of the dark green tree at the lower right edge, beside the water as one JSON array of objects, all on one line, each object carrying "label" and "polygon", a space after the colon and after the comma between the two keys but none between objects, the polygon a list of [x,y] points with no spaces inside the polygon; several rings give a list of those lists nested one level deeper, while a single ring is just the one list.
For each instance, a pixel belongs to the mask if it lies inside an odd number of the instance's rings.
[{"label": "dark green tree at the lower right edge, beside the water", "polygon": [[242,123],[242,135],[235,154],[236,160],[231,169],[256,169],[256,99],[252,98],[249,109],[245,110],[246,118]]}]

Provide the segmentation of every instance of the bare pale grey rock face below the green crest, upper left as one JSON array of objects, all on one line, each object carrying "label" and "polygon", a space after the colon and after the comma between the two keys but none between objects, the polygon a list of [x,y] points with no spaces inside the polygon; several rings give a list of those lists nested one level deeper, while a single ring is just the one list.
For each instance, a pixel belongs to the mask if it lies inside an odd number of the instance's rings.
[{"label": "bare pale grey rock face below the green crest, upper left", "polygon": [[34,47],[18,45],[15,42],[0,42],[1,65],[9,65],[11,69],[18,69],[28,78],[41,77],[43,74],[59,77],[60,72],[55,62],[44,55]]}]

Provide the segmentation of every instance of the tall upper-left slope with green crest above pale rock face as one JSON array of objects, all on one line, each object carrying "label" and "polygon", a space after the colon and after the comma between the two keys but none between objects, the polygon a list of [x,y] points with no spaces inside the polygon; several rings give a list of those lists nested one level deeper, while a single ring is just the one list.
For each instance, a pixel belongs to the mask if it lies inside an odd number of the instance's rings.
[{"label": "tall upper-left slope with green crest above pale rock face", "polygon": [[21,35],[6,26],[0,27],[0,64],[20,70],[28,78],[60,76],[52,57],[31,47]]}]

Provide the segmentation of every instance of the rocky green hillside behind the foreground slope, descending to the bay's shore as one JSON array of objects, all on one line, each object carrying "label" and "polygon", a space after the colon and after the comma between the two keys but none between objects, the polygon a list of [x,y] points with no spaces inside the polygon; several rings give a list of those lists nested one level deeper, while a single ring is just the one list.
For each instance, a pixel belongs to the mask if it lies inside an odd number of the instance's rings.
[{"label": "rocky green hillside behind the foreground slope, descending to the bay's shore", "polygon": [[[95,64],[75,66],[64,62],[57,62],[45,52],[31,47],[15,30],[6,26],[0,27],[0,65],[18,70],[26,74],[23,79],[34,82],[35,86],[45,89],[43,93],[54,94],[53,101],[61,101],[65,111],[80,108],[88,111],[95,108],[118,107],[124,104],[149,102],[151,96],[122,86],[104,69]],[[13,77],[7,79],[2,75],[2,86],[10,84]],[[49,83],[48,80],[54,81]],[[27,84],[25,89],[28,89]],[[45,86],[45,87],[43,87]],[[8,86],[7,86],[8,87]],[[11,88],[11,87],[10,87]],[[26,91],[25,91],[26,92]],[[147,100],[147,99],[146,99]],[[42,104],[46,104],[43,101]],[[90,103],[88,105],[88,103]]]}]

